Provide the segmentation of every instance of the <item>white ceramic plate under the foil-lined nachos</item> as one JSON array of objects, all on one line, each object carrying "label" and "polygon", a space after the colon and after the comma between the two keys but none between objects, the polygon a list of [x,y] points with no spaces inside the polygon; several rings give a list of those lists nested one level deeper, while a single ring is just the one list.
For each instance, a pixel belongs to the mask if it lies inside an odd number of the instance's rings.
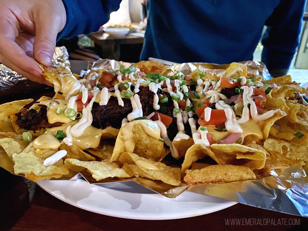
[{"label": "white ceramic plate under the foil-lined nachos", "polygon": [[130,181],[89,184],[77,180],[42,180],[37,184],[70,205],[112,217],[169,220],[213,213],[237,204],[233,201],[185,192],[170,199]]}]

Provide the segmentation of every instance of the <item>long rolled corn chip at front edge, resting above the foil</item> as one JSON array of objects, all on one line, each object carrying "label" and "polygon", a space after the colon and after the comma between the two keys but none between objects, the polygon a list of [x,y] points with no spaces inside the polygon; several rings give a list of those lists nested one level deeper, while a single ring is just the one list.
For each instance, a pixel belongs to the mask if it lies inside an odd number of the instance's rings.
[{"label": "long rolled corn chip at front edge, resting above the foil", "polygon": [[254,180],[255,174],[244,166],[217,164],[201,169],[186,170],[184,181],[189,184],[228,183],[239,180]]}]

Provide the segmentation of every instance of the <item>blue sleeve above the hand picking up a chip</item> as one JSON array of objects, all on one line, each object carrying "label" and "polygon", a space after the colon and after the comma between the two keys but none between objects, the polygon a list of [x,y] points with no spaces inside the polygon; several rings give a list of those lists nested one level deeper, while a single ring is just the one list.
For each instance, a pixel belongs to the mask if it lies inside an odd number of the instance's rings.
[{"label": "blue sleeve above the hand picking up a chip", "polygon": [[109,20],[110,13],[119,9],[121,2],[121,0],[62,1],[66,11],[66,24],[58,34],[57,41],[97,31]]}]

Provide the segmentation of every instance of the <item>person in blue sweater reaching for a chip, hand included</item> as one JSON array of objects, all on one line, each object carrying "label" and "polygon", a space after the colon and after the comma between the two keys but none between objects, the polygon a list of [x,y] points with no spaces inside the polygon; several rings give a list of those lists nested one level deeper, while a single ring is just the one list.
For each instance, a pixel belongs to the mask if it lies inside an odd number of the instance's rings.
[{"label": "person in blue sweater reaching for a chip, hand included", "polygon": [[[46,83],[29,56],[50,66],[55,43],[97,31],[121,0],[1,0],[0,61]],[[299,42],[305,0],[148,0],[141,60],[231,63],[252,60],[261,37],[262,60],[288,68]],[[5,6],[5,7],[4,7]]]}]

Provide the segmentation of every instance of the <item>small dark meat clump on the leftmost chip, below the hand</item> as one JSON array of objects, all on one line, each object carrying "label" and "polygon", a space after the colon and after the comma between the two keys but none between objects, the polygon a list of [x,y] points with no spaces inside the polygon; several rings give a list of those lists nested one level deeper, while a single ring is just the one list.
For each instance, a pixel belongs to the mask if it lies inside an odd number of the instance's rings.
[{"label": "small dark meat clump on the leftmost chip, below the hand", "polygon": [[15,114],[18,117],[16,121],[19,128],[24,128],[26,130],[36,131],[41,127],[46,127],[47,124],[47,109],[41,107],[39,112],[34,109],[22,113],[18,112]]}]

